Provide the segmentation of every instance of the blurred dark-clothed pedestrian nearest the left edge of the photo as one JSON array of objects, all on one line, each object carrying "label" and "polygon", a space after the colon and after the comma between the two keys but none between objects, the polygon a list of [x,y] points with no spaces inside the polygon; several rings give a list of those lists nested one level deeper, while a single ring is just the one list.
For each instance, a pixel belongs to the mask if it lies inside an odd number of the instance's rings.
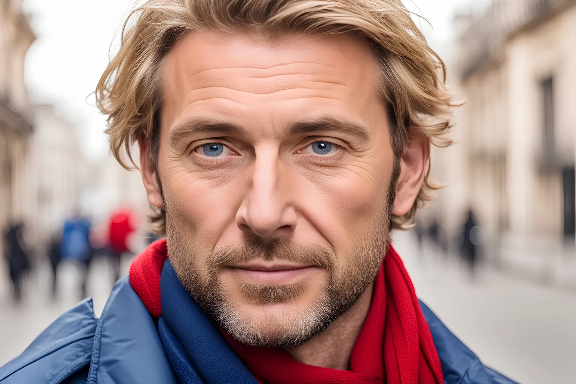
[{"label": "blurred dark-clothed pedestrian nearest the left edge of the photo", "polygon": [[21,223],[13,224],[6,233],[6,260],[16,301],[20,301],[22,277],[29,268],[28,255],[22,247],[22,227]]}]

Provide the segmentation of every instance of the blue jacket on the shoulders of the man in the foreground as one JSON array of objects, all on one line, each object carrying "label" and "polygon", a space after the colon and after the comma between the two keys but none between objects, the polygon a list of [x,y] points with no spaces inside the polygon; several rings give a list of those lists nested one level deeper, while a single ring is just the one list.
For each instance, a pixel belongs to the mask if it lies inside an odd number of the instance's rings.
[{"label": "blue jacket on the shoulders of the man in the foreground", "polygon": [[[446,384],[516,384],[480,362],[424,304]],[[158,326],[132,290],[116,283],[100,318],[92,299],[61,315],[0,367],[1,384],[178,383]]]}]

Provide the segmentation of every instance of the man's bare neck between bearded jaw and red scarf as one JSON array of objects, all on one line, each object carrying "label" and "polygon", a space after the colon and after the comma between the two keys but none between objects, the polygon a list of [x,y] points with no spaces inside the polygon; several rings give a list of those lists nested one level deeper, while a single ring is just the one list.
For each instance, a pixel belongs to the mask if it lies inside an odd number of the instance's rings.
[{"label": "man's bare neck between bearded jaw and red scarf", "polygon": [[284,350],[298,362],[310,366],[348,370],[350,355],[372,300],[374,283],[371,283],[360,298],[321,333],[298,347]]}]

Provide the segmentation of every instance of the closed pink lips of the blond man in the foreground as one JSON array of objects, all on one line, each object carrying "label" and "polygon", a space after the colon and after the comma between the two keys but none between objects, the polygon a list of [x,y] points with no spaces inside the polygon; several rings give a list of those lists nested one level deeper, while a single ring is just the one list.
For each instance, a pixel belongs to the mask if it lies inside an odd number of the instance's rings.
[{"label": "closed pink lips of the blond man in the foreground", "polygon": [[238,277],[253,284],[289,284],[309,273],[319,271],[316,265],[244,264],[230,267]]}]

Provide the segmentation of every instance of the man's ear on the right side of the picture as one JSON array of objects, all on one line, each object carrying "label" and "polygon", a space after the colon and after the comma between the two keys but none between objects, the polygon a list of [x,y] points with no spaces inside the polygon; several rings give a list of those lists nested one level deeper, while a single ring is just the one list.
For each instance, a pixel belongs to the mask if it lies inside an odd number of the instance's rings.
[{"label": "man's ear on the right side of the picture", "polygon": [[418,196],[424,182],[426,163],[430,155],[430,142],[426,138],[412,140],[410,147],[400,159],[400,176],[396,183],[396,199],[392,214],[407,214]]}]

